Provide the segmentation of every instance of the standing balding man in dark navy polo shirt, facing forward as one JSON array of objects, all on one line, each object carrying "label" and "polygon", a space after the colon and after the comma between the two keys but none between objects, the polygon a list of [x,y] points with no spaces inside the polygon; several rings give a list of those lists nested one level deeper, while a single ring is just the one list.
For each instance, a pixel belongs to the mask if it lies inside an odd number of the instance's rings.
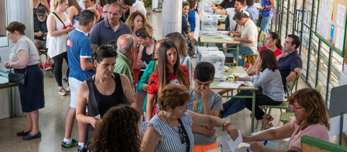
[{"label": "standing balding man in dark navy polo shirt, facing forward", "polygon": [[98,49],[99,45],[107,44],[110,40],[117,41],[121,35],[133,34],[131,28],[119,19],[122,16],[122,10],[119,3],[111,3],[107,19],[95,24],[89,36],[94,51]]}]

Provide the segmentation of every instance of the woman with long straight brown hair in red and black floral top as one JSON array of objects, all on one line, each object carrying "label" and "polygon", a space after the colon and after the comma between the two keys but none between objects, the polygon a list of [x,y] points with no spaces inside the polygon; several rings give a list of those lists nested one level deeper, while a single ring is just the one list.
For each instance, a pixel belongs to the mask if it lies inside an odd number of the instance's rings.
[{"label": "woman with long straight brown hair in red and black floral top", "polygon": [[159,96],[162,88],[169,83],[174,83],[177,85],[184,85],[188,90],[190,85],[188,68],[179,64],[179,54],[173,42],[166,40],[160,44],[158,62],[158,69],[153,72],[148,81],[146,105],[147,122],[149,122],[156,114],[157,110],[159,110],[158,102],[154,99],[156,99],[156,96]]}]

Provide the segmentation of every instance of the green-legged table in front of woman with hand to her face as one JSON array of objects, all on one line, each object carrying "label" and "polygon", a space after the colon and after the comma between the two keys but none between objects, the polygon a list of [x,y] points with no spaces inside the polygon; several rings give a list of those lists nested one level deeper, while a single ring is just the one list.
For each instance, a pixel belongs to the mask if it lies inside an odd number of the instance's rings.
[{"label": "green-legged table in front of woman with hand to her face", "polygon": [[[242,74],[247,74],[246,71],[243,69],[242,66],[230,66],[229,67],[231,70],[229,72],[224,72],[224,75],[226,77],[228,77],[229,75],[231,75],[232,73],[242,73]],[[224,79],[226,80],[226,79]],[[231,81],[223,81],[223,83],[236,83],[235,81],[232,81],[232,78],[229,78],[229,80]],[[222,97],[225,98],[252,98],[252,123],[251,123],[251,133],[254,132],[254,110],[255,110],[255,91],[258,90],[258,87],[254,87],[254,86],[245,86],[245,85],[240,85],[237,89],[233,89],[233,88],[227,88],[227,87],[221,87],[221,86],[217,86],[218,84],[220,84],[221,82],[218,80],[215,80],[211,83],[210,88],[211,89],[224,89],[224,90],[237,90],[237,92],[239,90],[252,90],[252,96],[232,96],[232,95],[223,95]]]}]

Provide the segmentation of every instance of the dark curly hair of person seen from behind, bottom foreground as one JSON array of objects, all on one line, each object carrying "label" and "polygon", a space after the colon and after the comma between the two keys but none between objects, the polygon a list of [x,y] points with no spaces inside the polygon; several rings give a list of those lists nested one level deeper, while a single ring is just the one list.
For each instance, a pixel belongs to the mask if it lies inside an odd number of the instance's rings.
[{"label": "dark curly hair of person seen from behind, bottom foreground", "polygon": [[139,113],[127,105],[110,108],[91,133],[88,147],[94,152],[140,152]]}]

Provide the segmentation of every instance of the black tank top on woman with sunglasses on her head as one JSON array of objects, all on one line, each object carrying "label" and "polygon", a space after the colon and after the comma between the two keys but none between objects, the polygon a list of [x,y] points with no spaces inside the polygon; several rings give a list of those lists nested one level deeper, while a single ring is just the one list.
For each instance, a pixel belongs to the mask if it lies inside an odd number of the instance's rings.
[{"label": "black tank top on woman with sunglasses on her head", "polygon": [[[115,92],[113,92],[111,95],[101,94],[98,91],[98,89],[96,89],[94,84],[95,77],[93,78],[93,90],[94,90],[96,104],[98,105],[101,118],[111,107],[114,107],[118,104],[126,103],[124,91],[122,88],[122,82],[120,80],[120,75],[119,73],[114,73],[114,74],[115,74],[115,77],[112,76],[112,78],[116,82],[116,87],[115,87]],[[88,103],[90,102],[88,101]],[[89,107],[89,105],[87,107]],[[89,111],[89,108],[88,108],[88,111]]]}]

